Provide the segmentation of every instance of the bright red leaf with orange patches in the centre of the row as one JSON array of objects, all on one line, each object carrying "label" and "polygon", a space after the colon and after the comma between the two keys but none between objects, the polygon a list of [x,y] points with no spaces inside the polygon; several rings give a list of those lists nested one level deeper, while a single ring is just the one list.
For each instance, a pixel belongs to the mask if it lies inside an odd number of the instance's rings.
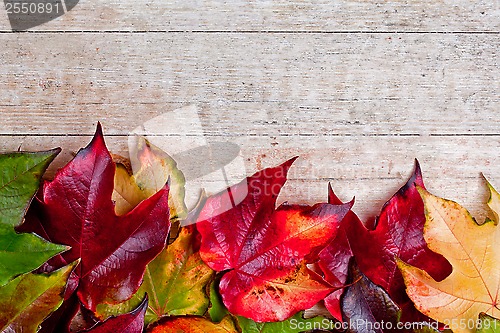
[{"label": "bright red leaf with orange patches in the centre of the row", "polygon": [[[306,262],[335,237],[351,204],[275,209],[294,160],[209,197],[198,218],[201,257],[216,271],[229,270],[219,287],[224,304],[257,322],[285,320],[333,290]],[[221,209],[232,202],[239,203]]]}]

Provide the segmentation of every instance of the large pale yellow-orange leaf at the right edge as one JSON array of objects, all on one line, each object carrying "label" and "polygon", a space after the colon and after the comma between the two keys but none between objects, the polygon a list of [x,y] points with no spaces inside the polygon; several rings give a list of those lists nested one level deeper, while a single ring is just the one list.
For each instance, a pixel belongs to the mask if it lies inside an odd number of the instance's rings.
[{"label": "large pale yellow-orange leaf at the right edge", "polygon": [[[488,184],[488,205],[498,216],[500,195]],[[419,188],[424,200],[424,238],[429,248],[453,266],[442,281],[398,261],[408,296],[428,317],[449,326],[455,333],[475,332],[479,314],[500,317],[500,228],[496,221],[479,225],[459,204]]]}]

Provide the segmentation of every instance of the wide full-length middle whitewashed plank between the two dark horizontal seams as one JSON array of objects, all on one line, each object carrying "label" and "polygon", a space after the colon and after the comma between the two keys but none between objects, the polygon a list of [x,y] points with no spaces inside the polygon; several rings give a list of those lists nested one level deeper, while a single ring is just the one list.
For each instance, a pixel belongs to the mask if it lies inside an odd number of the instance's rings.
[{"label": "wide full-length middle whitewashed plank between the two dark horizontal seams", "polygon": [[98,120],[109,134],[128,134],[190,104],[205,135],[500,133],[498,35],[3,34],[0,42],[1,134],[91,134]]}]

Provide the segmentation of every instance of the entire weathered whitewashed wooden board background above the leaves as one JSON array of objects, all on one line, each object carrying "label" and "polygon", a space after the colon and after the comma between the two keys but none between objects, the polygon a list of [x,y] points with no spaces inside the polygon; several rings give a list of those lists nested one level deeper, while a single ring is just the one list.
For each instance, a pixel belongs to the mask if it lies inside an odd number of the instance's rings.
[{"label": "entire weathered whitewashed wooden board background above the leaves", "polygon": [[[368,218],[418,158],[482,219],[480,172],[500,188],[499,26],[498,0],[81,0],[24,33],[2,13],[0,147],[62,147],[53,174],[97,121],[126,155],[133,129],[191,105],[190,135],[238,144],[248,174],[301,156],[281,200],[331,182]],[[146,134],[184,135],[164,124]]]}]

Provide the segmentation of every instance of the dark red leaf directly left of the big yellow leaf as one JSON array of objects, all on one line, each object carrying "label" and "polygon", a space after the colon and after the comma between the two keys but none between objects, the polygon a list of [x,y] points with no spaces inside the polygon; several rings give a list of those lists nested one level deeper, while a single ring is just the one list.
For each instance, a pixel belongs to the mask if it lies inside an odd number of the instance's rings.
[{"label": "dark red leaf directly left of the big yellow leaf", "polygon": [[438,280],[452,270],[448,261],[429,250],[425,243],[424,205],[415,185],[424,188],[418,161],[408,182],[382,208],[374,230],[368,230],[359,220],[350,221],[346,228],[361,271],[389,293],[402,308],[403,320],[410,321],[422,317],[406,295],[395,258],[427,271]]}]

